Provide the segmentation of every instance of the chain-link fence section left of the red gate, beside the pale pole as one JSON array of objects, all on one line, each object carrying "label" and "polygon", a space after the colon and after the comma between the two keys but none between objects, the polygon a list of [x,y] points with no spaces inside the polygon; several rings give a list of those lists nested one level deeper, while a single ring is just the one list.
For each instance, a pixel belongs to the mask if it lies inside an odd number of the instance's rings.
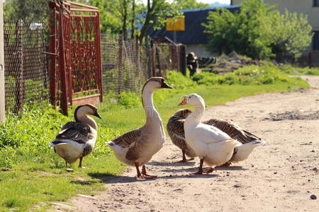
[{"label": "chain-link fence section left of the red gate, beside the pale pole", "polygon": [[43,23],[4,20],[6,111],[47,99],[47,59]]}]

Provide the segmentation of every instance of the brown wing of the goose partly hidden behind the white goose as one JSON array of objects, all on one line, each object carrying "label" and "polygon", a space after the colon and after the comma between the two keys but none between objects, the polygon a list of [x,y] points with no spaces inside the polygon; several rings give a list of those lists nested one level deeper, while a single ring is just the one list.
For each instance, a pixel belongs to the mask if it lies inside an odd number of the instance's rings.
[{"label": "brown wing of the goose partly hidden behind the white goose", "polygon": [[249,131],[243,130],[235,122],[223,119],[209,119],[204,124],[215,126],[221,131],[228,134],[232,139],[240,141],[240,143],[250,143],[251,141],[261,140],[259,137],[251,134]]}]

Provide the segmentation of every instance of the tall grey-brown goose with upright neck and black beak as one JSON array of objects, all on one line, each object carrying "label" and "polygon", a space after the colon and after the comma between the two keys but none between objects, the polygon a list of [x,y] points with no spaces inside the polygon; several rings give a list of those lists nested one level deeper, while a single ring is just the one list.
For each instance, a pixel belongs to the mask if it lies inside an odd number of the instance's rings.
[{"label": "tall grey-brown goose with upright neck and black beak", "polygon": [[153,92],[161,88],[172,87],[167,85],[162,77],[149,78],[142,88],[142,105],[146,115],[144,126],[106,142],[118,160],[136,167],[139,179],[157,177],[147,175],[145,164],[162,148],[165,141],[162,119],[153,104]]}]

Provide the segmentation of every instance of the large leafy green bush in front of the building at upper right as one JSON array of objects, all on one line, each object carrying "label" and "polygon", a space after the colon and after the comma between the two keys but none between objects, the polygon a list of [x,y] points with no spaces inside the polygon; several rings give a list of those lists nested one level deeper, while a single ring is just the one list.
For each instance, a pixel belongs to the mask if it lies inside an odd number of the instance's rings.
[{"label": "large leafy green bush in front of the building at upper right", "polygon": [[311,26],[307,17],[289,13],[280,15],[275,6],[262,0],[247,0],[240,11],[231,13],[219,8],[203,24],[211,34],[208,48],[216,52],[236,51],[252,58],[299,57],[310,45]]}]

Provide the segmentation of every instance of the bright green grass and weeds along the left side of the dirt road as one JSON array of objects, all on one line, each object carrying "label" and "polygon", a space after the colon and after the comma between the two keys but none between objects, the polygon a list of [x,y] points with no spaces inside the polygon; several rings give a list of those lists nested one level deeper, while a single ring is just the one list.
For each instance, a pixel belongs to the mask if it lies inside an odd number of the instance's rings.
[{"label": "bright green grass and weeds along the left side of the dirt road", "polygon": [[[199,83],[169,72],[167,83],[176,89],[157,90],[154,95],[164,126],[181,108],[177,107],[181,97],[189,93],[198,93],[206,105],[213,106],[247,95],[308,87],[300,78],[287,78],[285,71],[264,68],[254,71],[255,68],[241,69],[239,75],[233,73],[231,77],[203,74],[196,76]],[[242,76],[245,81],[238,80]],[[259,83],[250,78],[257,78]],[[109,93],[99,106],[99,113],[103,119],[96,120],[99,136],[94,151],[84,158],[85,169],[77,168],[78,162],[72,165],[74,172],[66,172],[64,160],[48,145],[62,124],[73,117],[64,117],[48,106],[26,108],[22,118],[9,114],[6,122],[0,124],[0,211],[30,211],[38,202],[64,201],[74,194],[91,194],[102,190],[103,182],[109,177],[120,174],[124,165],[104,142],[145,123],[140,95]],[[41,204],[34,211],[45,207],[47,204]]]}]

